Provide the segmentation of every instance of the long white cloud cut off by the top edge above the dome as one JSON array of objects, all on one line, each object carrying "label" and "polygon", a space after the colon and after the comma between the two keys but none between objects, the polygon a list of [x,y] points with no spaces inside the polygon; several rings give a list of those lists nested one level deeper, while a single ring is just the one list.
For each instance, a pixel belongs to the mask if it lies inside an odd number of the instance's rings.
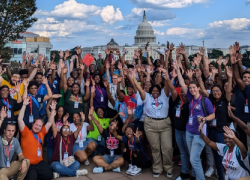
[{"label": "long white cloud cut off by the top edge above the dome", "polygon": [[192,4],[207,3],[209,0],[129,0],[139,8],[184,8]]}]

